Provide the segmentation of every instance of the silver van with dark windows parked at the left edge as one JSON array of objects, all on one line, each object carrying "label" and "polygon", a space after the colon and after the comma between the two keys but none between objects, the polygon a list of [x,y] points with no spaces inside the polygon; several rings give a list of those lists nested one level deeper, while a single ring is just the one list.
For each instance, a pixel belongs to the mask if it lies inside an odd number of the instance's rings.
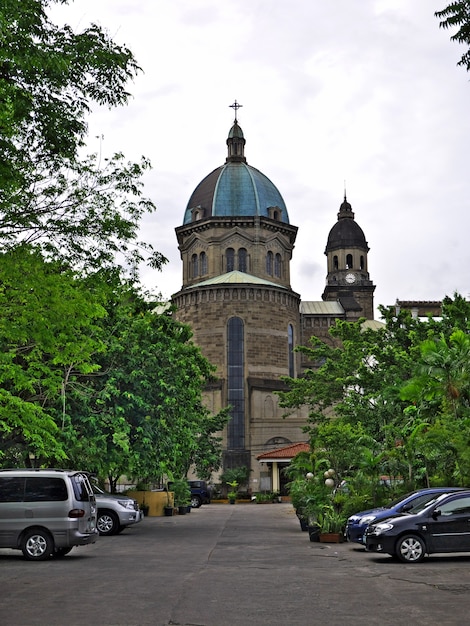
[{"label": "silver van with dark windows parked at the left edge", "polygon": [[96,501],[86,472],[0,470],[0,548],[42,561],[97,537]]}]

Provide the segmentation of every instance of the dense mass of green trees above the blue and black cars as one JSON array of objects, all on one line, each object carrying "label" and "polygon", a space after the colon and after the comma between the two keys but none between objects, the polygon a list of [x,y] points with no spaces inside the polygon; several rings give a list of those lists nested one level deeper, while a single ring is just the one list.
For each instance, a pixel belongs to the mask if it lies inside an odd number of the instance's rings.
[{"label": "dense mass of green trees above the blue and black cars", "polygon": [[297,463],[288,470],[293,501],[304,506],[312,487],[302,487],[303,477],[316,476],[320,460],[335,470],[336,486],[347,481],[347,496],[335,496],[342,510],[351,501],[382,504],[395,489],[470,483],[470,303],[446,297],[442,317],[425,321],[395,307],[381,311],[383,329],[338,321],[335,347],[314,339],[299,348],[312,368],[286,378],[289,391],[279,394],[286,409],[310,409],[312,453],[300,472]]}]

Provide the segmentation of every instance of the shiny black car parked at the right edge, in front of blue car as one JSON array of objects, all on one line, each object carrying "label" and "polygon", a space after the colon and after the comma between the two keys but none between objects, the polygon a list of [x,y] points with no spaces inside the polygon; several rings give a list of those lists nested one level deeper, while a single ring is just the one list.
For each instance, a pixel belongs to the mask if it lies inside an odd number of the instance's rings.
[{"label": "shiny black car parked at the right edge, in front of blue car", "polygon": [[470,552],[470,490],[439,495],[370,524],[365,543],[368,552],[385,552],[404,563],[418,563],[436,552]]}]

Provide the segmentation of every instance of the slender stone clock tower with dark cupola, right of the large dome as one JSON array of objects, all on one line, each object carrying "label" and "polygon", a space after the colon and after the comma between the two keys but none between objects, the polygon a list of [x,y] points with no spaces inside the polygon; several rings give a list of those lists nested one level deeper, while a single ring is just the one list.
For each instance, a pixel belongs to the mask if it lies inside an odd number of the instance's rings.
[{"label": "slender stone clock tower with dark cupola, right of the large dome", "polygon": [[375,285],[367,270],[368,252],[364,232],[354,220],[345,194],[326,244],[327,275],[322,299],[338,301],[351,321],[359,317],[374,319]]}]

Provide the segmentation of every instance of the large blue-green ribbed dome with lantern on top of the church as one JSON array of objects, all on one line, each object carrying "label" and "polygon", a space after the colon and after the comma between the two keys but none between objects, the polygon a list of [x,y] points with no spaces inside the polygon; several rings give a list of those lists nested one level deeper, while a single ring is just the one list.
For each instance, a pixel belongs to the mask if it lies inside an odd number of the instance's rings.
[{"label": "large blue-green ribbed dome with lantern on top of the church", "polygon": [[[224,165],[206,176],[191,194],[183,224],[194,221],[195,209],[200,218],[209,217],[272,217],[289,223],[285,202],[277,187],[262,172],[251,167],[244,156],[245,138],[235,120],[228,138],[228,156]],[[270,211],[271,209],[271,211]]]}]

